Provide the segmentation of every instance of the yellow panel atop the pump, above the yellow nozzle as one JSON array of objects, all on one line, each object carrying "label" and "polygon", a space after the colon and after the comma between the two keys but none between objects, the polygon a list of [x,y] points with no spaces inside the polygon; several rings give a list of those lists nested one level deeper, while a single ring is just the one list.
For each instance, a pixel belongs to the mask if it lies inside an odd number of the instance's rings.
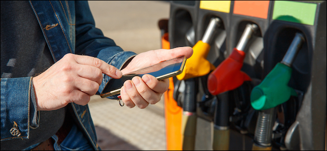
[{"label": "yellow panel atop the pump, above the yellow nozzle", "polygon": [[200,9],[229,13],[230,1],[200,1]]}]

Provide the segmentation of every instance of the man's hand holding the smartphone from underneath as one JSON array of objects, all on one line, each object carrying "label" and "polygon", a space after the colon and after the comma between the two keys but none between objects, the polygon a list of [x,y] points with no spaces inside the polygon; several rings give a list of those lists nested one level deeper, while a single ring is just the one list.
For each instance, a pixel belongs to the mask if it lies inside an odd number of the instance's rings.
[{"label": "man's hand holding the smartphone from underneath", "polygon": [[[182,55],[191,57],[193,49],[191,47],[178,47],[174,49],[158,49],[140,53],[136,55],[131,62],[122,69],[122,73],[128,73],[133,70],[141,69],[154,65],[161,61],[173,59]],[[120,95],[122,101],[129,108],[135,105],[141,109],[150,104],[157,103],[162,94],[168,90],[169,80],[158,81],[150,74],[143,75],[142,78],[134,77],[128,80],[121,88]]]}]

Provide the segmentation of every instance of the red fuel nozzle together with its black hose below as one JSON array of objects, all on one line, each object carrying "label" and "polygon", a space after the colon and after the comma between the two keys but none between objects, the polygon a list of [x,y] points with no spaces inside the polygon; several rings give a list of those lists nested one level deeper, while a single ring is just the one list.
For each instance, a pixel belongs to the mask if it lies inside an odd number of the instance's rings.
[{"label": "red fuel nozzle together with its black hose below", "polygon": [[243,50],[257,29],[256,24],[247,24],[236,48],[208,77],[208,90],[218,99],[214,114],[213,150],[229,149],[228,91],[241,86],[244,81],[251,81],[249,75],[240,69],[246,55]]}]

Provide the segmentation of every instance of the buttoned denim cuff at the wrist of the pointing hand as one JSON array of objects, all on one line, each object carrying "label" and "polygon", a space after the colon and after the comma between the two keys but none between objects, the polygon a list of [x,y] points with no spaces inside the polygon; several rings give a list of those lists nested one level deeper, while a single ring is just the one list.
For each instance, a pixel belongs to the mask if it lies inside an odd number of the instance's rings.
[{"label": "buttoned denim cuff at the wrist of the pointing hand", "polygon": [[1,79],[1,140],[29,138],[32,77]]}]

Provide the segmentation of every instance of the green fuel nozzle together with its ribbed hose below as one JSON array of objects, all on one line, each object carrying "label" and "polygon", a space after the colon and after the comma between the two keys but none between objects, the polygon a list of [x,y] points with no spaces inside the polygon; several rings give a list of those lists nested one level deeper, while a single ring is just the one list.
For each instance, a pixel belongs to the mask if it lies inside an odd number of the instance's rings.
[{"label": "green fuel nozzle together with its ribbed hose below", "polygon": [[259,112],[253,150],[271,150],[272,126],[276,118],[276,106],[296,96],[293,88],[287,86],[291,78],[291,65],[305,41],[304,36],[296,33],[284,58],[269,72],[261,84],[251,93],[251,105]]}]

